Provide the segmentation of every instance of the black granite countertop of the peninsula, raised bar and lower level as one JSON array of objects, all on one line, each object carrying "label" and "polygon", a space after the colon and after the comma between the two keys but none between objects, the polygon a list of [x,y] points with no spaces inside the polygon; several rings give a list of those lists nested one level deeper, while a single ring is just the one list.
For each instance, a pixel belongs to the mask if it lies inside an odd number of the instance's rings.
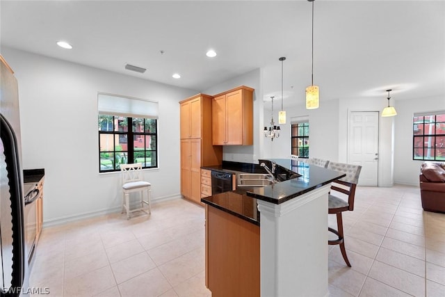
[{"label": "black granite countertop of the peninsula, raised bar and lower level", "polygon": [[[284,182],[278,182],[277,184],[272,184],[270,186],[264,187],[252,187],[252,188],[237,188],[236,191],[220,193],[216,195],[209,196],[207,198],[202,198],[201,201],[209,204],[213,207],[227,211],[229,214],[238,216],[248,220],[255,225],[259,225],[259,214],[258,211],[251,212],[248,208],[248,212],[245,212],[244,208],[240,208],[240,204],[252,204],[255,207],[257,200],[264,200],[273,204],[281,204],[288,200],[298,198],[298,196],[303,195],[309,191],[316,188],[330,184],[336,179],[344,177],[343,173],[309,165],[297,160],[292,159],[266,159],[268,161],[275,161],[277,166],[284,168],[285,170],[290,170],[297,173],[300,177],[286,180]],[[236,162],[230,162],[236,163]],[[243,171],[243,168],[248,170],[243,172],[250,173],[264,173],[264,169],[257,164],[241,163],[241,166],[232,166],[234,164],[229,164],[229,168],[223,163],[222,166],[207,166],[202,167],[209,170],[217,170],[220,172],[233,172],[233,171]],[[226,164],[227,165],[227,164]],[[270,167],[270,166],[269,166]],[[234,170],[234,169],[237,170]],[[240,170],[241,169],[241,170]],[[223,171],[226,170],[226,171]],[[257,171],[259,170],[259,171]],[[251,199],[252,202],[245,202]]]}]

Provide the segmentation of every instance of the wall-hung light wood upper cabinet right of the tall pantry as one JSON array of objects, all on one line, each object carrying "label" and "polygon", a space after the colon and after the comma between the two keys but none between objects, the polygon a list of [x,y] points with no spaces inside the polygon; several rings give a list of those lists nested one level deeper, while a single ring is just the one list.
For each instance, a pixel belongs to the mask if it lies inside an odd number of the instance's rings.
[{"label": "wall-hung light wood upper cabinet right of the tall pantry", "polygon": [[253,144],[253,89],[241,86],[212,102],[213,145]]}]

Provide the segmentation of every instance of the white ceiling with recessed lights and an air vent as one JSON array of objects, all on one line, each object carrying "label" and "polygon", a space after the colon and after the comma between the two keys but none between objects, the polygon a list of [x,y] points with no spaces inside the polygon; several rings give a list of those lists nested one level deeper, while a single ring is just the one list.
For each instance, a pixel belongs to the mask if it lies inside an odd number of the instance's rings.
[{"label": "white ceiling with recessed lights and an air vent", "polygon": [[[303,98],[311,82],[306,0],[1,0],[0,13],[2,46],[199,92],[261,68],[264,97],[280,98],[280,56],[287,58],[285,106]],[[386,103],[387,88],[396,100],[445,95],[445,1],[318,0],[314,16],[314,84],[322,102]],[[58,40],[74,48],[61,49]],[[205,56],[208,49],[218,56]],[[147,72],[125,70],[126,63]]]}]

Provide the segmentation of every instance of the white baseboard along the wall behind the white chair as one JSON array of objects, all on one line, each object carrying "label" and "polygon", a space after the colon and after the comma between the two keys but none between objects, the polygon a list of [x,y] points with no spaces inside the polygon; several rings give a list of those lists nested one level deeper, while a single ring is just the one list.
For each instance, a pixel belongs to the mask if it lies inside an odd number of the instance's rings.
[{"label": "white baseboard along the wall behind the white chair", "polygon": [[[152,199],[152,204],[157,204],[160,202],[170,201],[170,200],[176,200],[181,198],[181,194],[175,194],[175,195],[167,195],[167,196],[161,196],[158,198]],[[108,208],[108,209],[99,209],[96,211],[86,211],[81,214],[74,214],[69,216],[61,216],[59,218],[51,218],[49,220],[43,221],[43,227],[51,227],[56,225],[63,225],[66,223],[71,223],[76,220],[85,220],[86,218],[94,218],[97,216],[104,216],[106,214],[117,214],[122,210],[122,205]]]}]

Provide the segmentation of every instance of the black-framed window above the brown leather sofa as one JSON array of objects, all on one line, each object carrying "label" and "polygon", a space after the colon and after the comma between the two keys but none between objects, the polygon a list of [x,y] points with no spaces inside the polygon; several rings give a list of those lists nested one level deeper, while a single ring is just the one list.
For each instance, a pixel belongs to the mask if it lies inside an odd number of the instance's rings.
[{"label": "black-framed window above the brown leather sofa", "polygon": [[413,160],[445,160],[445,111],[414,113]]}]

